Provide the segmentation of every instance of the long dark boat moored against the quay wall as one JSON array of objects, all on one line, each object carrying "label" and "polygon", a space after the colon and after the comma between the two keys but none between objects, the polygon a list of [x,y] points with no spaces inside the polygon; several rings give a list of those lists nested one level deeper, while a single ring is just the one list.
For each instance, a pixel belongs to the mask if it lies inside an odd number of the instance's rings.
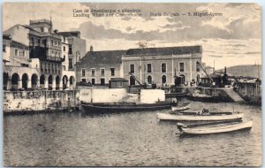
[{"label": "long dark boat moored against the quay wall", "polygon": [[171,103],[82,103],[86,112],[129,112],[168,110]]}]

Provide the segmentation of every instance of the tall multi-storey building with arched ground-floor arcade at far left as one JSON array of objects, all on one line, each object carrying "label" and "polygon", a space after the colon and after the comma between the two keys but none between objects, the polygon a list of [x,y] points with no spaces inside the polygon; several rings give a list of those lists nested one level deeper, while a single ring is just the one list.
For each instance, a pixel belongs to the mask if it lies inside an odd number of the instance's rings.
[{"label": "tall multi-storey building with arched ground-floor arcade at far left", "polygon": [[48,19],[4,31],[4,88],[74,88],[75,72],[66,66],[70,47],[65,38]]}]

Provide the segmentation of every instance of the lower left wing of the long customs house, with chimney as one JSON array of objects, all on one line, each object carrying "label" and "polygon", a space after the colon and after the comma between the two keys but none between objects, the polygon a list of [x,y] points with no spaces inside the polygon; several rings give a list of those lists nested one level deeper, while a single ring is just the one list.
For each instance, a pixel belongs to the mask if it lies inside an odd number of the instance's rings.
[{"label": "lower left wing of the long customs house, with chimney", "polygon": [[91,47],[77,64],[77,80],[94,86],[107,86],[111,78],[123,76],[121,58],[125,52],[125,50],[93,51]]}]

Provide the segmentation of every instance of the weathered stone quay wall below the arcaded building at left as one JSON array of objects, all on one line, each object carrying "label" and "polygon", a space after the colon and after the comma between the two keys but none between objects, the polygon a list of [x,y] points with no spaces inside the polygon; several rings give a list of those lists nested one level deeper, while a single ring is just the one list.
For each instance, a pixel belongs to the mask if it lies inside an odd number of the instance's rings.
[{"label": "weathered stone quay wall below the arcaded building at left", "polygon": [[79,90],[4,91],[4,112],[60,111],[79,106]]}]

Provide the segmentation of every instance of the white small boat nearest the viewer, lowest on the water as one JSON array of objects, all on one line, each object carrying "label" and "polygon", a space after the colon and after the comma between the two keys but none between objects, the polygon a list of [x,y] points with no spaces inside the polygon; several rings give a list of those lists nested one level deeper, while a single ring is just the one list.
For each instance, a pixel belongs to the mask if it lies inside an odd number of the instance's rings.
[{"label": "white small boat nearest the viewer, lowest on the water", "polygon": [[253,121],[225,123],[225,124],[208,124],[208,126],[185,126],[178,123],[178,130],[182,135],[199,135],[199,134],[221,134],[233,131],[245,130],[252,128]]}]

